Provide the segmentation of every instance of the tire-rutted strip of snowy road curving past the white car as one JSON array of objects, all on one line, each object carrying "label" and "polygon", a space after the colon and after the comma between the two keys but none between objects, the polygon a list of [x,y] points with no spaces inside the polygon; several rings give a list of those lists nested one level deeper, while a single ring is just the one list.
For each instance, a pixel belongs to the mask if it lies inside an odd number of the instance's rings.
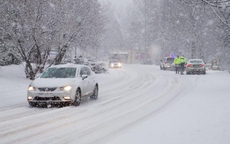
[{"label": "tire-rutted strip of snowy road curving past the white car", "polygon": [[[135,125],[137,122],[143,121],[143,119],[147,117],[151,112],[155,114],[156,112],[151,110],[151,106],[157,105],[159,100],[164,102],[164,98],[167,97],[167,94],[171,93],[170,90],[174,88],[171,84],[174,82],[174,79],[163,79],[160,74],[154,73],[156,76],[158,76],[158,80],[156,81],[156,77],[154,77],[153,74],[149,71],[137,70],[132,67],[127,70],[130,71],[133,69],[136,70],[136,72],[132,72],[132,75],[134,77],[139,75],[139,79],[137,79],[139,83],[132,84],[131,88],[134,89],[131,89],[130,87],[122,89],[125,84],[129,84],[130,82],[134,83],[135,81],[132,81],[133,77],[126,76],[129,73],[121,72],[120,76],[122,78],[120,80],[122,80],[122,86],[115,86],[115,88],[118,88],[117,90],[122,90],[120,92],[118,91],[121,93],[121,95],[117,95],[117,93],[111,94],[109,96],[106,94],[103,95],[103,93],[109,92],[109,90],[105,90],[102,91],[102,98],[98,99],[99,102],[95,101],[92,103],[92,105],[83,104],[83,107],[80,106],[79,108],[71,107],[62,109],[62,112],[58,116],[55,116],[58,114],[57,110],[54,110],[54,112],[51,110],[49,114],[51,114],[53,117],[50,118],[45,118],[48,112],[45,112],[45,114],[38,114],[36,117],[19,117],[16,121],[20,122],[22,125],[26,124],[25,121],[31,121],[33,119],[35,120],[38,117],[44,118],[44,120],[34,124],[32,123],[25,127],[19,127],[17,131],[11,130],[11,133],[10,131],[5,131],[4,133],[0,132],[0,137],[3,136],[3,140],[9,143],[30,143],[34,142],[34,140],[36,140],[37,143],[71,142],[69,139],[72,140],[71,138],[73,135],[75,137],[79,137],[79,141],[82,141],[83,143],[105,141],[105,137],[111,136],[114,133],[120,133],[130,126]],[[125,77],[129,78],[130,81],[124,79]],[[154,79],[151,80],[151,78]],[[159,78],[162,78],[162,80],[159,80]],[[153,81],[156,81],[156,83],[151,85]],[[114,86],[108,86],[108,89],[110,90],[113,88]],[[179,86],[178,88],[181,87]],[[162,89],[165,89],[166,91],[164,92]],[[152,93],[150,90],[154,91],[154,93]],[[114,101],[112,98],[116,99],[116,101]],[[170,95],[170,99],[171,98],[174,98],[174,96]],[[161,108],[162,106],[159,107]],[[143,113],[142,109],[150,110],[146,113]],[[79,111],[82,112],[79,113]],[[140,114],[140,116],[136,116],[136,113]],[[79,117],[73,117],[74,115]],[[129,120],[131,116],[134,117],[134,120]],[[120,121],[124,121],[124,123],[120,123]],[[113,126],[114,124],[116,125]],[[75,129],[73,129],[73,127]],[[103,133],[105,129],[108,133]],[[98,137],[95,136],[95,133],[97,132],[101,132],[100,136]],[[10,135],[4,135],[7,133]],[[69,133],[73,133],[73,135]],[[54,136],[44,138],[44,135],[53,136],[55,134],[57,135],[56,137]],[[87,135],[91,135],[95,138],[88,140]],[[13,136],[14,139],[8,141],[8,136]]]}]

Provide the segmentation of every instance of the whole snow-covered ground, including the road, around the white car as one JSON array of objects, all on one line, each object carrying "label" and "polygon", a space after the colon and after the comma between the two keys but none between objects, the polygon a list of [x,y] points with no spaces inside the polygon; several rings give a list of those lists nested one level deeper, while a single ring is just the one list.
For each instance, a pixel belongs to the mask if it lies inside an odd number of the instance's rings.
[{"label": "whole snow-covered ground, including the road, around the white car", "polygon": [[229,144],[230,74],[124,65],[97,75],[99,99],[31,108],[22,66],[0,68],[0,143]]}]

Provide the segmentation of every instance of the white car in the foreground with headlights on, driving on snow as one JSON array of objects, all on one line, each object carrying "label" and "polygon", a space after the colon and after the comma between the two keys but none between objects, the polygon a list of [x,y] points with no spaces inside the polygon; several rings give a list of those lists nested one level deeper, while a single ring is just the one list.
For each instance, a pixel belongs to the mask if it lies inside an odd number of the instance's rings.
[{"label": "white car in the foreground with headlights on, driving on snow", "polygon": [[67,64],[48,68],[28,87],[30,106],[75,105],[82,98],[98,98],[98,82],[95,73],[85,65]]}]

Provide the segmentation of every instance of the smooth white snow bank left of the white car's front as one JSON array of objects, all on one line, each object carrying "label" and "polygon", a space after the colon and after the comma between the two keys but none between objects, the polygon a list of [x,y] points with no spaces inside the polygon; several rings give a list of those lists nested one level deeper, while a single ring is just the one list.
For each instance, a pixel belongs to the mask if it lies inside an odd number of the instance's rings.
[{"label": "smooth white snow bank left of the white car's front", "polygon": [[0,108],[27,106],[27,88],[31,80],[26,79],[23,64],[0,66]]}]

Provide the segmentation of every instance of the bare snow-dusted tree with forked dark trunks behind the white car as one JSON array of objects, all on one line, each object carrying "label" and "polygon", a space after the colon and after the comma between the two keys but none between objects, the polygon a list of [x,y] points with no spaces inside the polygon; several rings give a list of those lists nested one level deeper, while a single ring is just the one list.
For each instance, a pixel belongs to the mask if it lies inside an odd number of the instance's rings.
[{"label": "bare snow-dusted tree with forked dark trunks behind the white car", "polygon": [[95,0],[8,0],[0,7],[3,35],[19,51],[30,79],[43,71],[51,50],[58,53],[52,63],[60,63],[72,46],[98,45],[104,27]]}]

